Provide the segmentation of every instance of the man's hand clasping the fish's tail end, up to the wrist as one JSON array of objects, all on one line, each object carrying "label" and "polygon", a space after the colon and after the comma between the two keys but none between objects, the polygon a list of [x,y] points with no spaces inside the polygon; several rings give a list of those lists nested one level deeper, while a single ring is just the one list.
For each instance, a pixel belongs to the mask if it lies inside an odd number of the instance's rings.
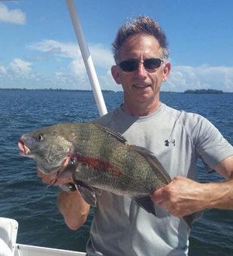
[{"label": "man's hand clasping the fish's tail end, up to the wrist", "polygon": [[206,184],[177,176],[168,185],[156,190],[151,199],[171,215],[182,217],[208,208],[209,192],[210,187]]}]

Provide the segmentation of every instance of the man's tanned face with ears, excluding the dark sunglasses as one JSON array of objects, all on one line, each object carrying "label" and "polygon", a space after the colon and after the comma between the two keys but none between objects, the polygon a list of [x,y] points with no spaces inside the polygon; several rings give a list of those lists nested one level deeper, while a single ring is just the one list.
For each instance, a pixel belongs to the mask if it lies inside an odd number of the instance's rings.
[{"label": "man's tanned face with ears, excluding the dark sunglasses", "polygon": [[[139,62],[150,58],[161,58],[159,42],[150,35],[132,35],[120,49],[120,62],[135,59]],[[145,69],[143,64],[133,72],[124,72],[120,66],[112,67],[112,75],[117,84],[122,84],[125,103],[131,105],[154,104],[159,102],[159,90],[162,81],[166,81],[170,72],[170,63],[162,64],[158,69]]]}]

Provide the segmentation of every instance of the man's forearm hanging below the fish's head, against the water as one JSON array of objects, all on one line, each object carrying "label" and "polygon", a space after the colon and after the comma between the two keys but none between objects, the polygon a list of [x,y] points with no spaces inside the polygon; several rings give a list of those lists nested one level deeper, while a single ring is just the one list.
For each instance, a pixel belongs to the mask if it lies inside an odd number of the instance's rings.
[{"label": "man's forearm hanging below the fish's head, against the water", "polygon": [[83,200],[78,191],[67,193],[60,189],[57,201],[59,211],[68,227],[71,230],[81,227],[89,214],[89,204]]}]

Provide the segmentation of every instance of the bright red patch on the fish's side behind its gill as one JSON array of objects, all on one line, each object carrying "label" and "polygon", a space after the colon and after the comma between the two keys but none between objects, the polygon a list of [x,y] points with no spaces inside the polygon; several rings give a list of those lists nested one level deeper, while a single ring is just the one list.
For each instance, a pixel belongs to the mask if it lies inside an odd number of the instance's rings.
[{"label": "bright red patch on the fish's side behind its gill", "polygon": [[113,176],[120,177],[122,172],[120,169],[117,169],[113,164],[100,160],[94,157],[83,157],[80,154],[74,155],[77,158],[77,162],[82,163],[83,165],[87,166],[89,169],[95,170],[103,170],[104,172],[109,172]]}]

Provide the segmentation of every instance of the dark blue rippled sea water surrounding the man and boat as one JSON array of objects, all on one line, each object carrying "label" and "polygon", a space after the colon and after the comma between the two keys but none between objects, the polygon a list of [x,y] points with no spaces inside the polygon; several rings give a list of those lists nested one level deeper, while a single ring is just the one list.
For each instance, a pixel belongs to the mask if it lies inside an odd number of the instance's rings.
[{"label": "dark blue rippled sea water surrounding the man and boat", "polygon": [[[123,102],[122,93],[104,93],[108,111]],[[233,94],[190,95],[162,93],[162,102],[207,117],[233,145]],[[48,187],[36,175],[35,161],[20,157],[23,133],[61,122],[98,117],[92,93],[0,90],[0,216],[19,222],[17,242],[85,251],[92,221],[69,230],[56,206],[57,187]],[[198,181],[221,181],[207,175],[198,163]],[[233,255],[233,211],[210,209],[195,222],[189,256]]]}]

